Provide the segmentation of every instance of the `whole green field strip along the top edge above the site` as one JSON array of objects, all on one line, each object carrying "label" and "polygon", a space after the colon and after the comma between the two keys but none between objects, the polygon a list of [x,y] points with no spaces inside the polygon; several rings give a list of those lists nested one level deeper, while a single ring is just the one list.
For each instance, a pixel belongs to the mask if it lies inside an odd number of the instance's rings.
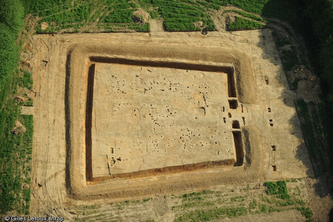
[{"label": "whole green field strip along the top edge above the site", "polygon": [[[133,11],[138,8],[146,10],[151,17],[161,17],[167,31],[197,31],[200,27],[194,22],[201,21],[202,28],[215,30],[211,16],[221,6],[233,5],[250,13],[234,10],[244,17],[265,21],[263,16],[290,20],[293,9],[281,9],[291,3],[282,1],[253,0],[27,0],[26,13],[41,18],[39,23],[46,22],[46,30],[37,32],[94,32],[94,31],[149,31],[149,25],[137,24],[132,20]],[[295,16],[294,16],[295,17]],[[263,25],[239,18],[231,30],[260,28]],[[39,27],[39,26],[38,26]]]}]

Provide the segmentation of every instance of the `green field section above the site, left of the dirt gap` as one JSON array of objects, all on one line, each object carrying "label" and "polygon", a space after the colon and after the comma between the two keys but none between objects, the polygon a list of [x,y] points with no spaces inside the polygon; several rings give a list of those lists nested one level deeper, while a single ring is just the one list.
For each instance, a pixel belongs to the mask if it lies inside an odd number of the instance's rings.
[{"label": "green field section above the site, left of the dirt gap", "polygon": [[149,31],[148,24],[138,24],[132,19],[138,6],[128,0],[28,0],[26,13],[41,17],[48,27],[43,32],[99,31]]}]

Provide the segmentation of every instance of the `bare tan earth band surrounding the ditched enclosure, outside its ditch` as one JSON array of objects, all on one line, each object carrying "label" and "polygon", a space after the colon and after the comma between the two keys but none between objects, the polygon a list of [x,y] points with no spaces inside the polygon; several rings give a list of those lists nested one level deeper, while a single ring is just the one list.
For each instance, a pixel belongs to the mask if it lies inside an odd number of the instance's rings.
[{"label": "bare tan earth band surrounding the ditched enclosure, outside its ditch", "polygon": [[[64,206],[92,203],[91,200],[100,198],[116,200],[182,193],[216,185],[313,175],[293,103],[296,95],[287,87],[269,30],[210,32],[206,36],[196,32],[161,32],[152,36],[148,33],[39,35],[33,39],[37,97],[32,215],[67,215]],[[231,121],[230,112],[232,119],[242,125],[244,165],[117,178],[89,185],[83,148],[84,95],[88,67],[91,61],[100,58],[113,62],[141,61],[142,66],[147,61],[192,67],[198,64],[217,67],[221,63],[235,66],[239,107],[236,110],[226,107],[221,117],[226,115]]]}]

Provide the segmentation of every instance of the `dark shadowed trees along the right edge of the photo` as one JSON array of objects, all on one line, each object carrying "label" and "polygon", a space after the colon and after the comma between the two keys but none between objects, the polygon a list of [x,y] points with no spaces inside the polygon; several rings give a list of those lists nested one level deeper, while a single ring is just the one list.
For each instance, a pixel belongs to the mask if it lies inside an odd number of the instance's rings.
[{"label": "dark shadowed trees along the right edge of the photo", "polygon": [[[308,38],[308,47],[312,52],[312,59],[322,77],[323,102],[320,105],[321,114],[333,115],[333,0],[311,1],[304,0],[306,5],[305,14],[311,22],[313,35]],[[311,34],[311,33],[310,33]],[[324,121],[324,127],[328,130],[326,147],[333,147],[333,132],[331,126],[333,118],[328,117]],[[333,169],[332,149],[326,149],[330,157],[331,169]]]}]

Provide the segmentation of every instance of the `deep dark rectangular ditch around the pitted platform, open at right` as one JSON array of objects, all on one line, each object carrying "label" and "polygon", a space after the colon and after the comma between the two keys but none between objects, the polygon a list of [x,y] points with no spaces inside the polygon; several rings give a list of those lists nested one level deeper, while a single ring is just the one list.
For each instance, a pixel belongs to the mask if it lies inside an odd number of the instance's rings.
[{"label": "deep dark rectangular ditch around the pitted platform, open at right", "polygon": [[[223,72],[227,73],[228,80],[228,96],[236,97],[234,67],[220,67],[213,65],[199,65],[199,64],[187,64],[187,63],[175,63],[175,62],[154,62],[154,61],[137,61],[129,59],[119,58],[104,58],[104,57],[90,57],[92,64],[88,69],[87,76],[87,94],[86,94],[86,114],[85,114],[85,174],[86,181],[98,182],[113,178],[137,178],[146,177],[150,175],[159,175],[167,173],[177,173],[181,171],[192,171],[207,167],[233,165],[243,165],[244,153],[241,132],[233,131],[234,141],[236,145],[236,160],[226,159],[220,161],[207,161],[201,163],[186,164],[180,166],[169,166],[162,168],[155,168],[149,170],[136,171],[131,173],[113,174],[110,176],[93,177],[92,171],[92,138],[91,138],[91,126],[92,126],[92,106],[93,106],[93,86],[94,86],[94,74],[95,63],[118,63],[126,65],[148,66],[148,67],[163,67],[163,68],[175,68],[182,70],[196,70],[196,71],[210,71],[210,72]],[[227,98],[226,98],[227,99]]]}]

